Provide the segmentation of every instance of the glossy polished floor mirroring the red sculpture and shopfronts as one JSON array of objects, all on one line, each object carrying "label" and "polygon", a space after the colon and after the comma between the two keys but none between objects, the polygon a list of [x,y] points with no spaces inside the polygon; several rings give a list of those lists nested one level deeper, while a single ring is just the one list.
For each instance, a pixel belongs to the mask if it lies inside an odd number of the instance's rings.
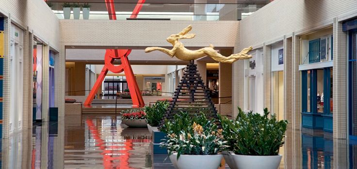
[{"label": "glossy polished floor mirroring the red sculpture and shopfronts", "polygon": [[[147,129],[114,116],[66,116],[0,141],[3,169],[173,169],[151,154]],[[357,168],[357,145],[322,131],[289,129],[280,154],[280,169]]]}]

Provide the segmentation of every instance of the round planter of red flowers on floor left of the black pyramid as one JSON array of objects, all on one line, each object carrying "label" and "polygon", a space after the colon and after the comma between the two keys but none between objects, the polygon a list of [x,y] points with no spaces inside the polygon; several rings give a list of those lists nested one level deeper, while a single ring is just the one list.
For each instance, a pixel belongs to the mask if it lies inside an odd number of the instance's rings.
[{"label": "round planter of red flowers on floor left of the black pyramid", "polygon": [[133,109],[123,113],[121,122],[128,127],[146,128],[146,113],[141,109]]}]

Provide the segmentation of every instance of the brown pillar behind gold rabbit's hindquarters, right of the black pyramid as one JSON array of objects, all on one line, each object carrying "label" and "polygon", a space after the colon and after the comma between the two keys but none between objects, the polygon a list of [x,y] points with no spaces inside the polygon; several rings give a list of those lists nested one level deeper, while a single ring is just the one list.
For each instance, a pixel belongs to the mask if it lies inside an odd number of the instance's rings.
[{"label": "brown pillar behind gold rabbit's hindquarters, right of the black pyramid", "polygon": [[[223,56],[232,55],[231,49],[222,49],[220,53]],[[218,82],[219,82],[219,97],[229,97],[232,96],[232,66],[230,63],[219,63],[218,71]],[[220,104],[232,104],[229,102],[232,98],[221,98],[219,99]]]}]

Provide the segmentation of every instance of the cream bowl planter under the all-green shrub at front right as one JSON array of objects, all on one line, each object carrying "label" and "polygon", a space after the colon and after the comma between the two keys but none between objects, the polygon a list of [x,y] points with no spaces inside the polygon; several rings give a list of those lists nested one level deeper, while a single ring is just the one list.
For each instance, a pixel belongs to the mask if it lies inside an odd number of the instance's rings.
[{"label": "cream bowl planter under the all-green shrub at front right", "polygon": [[277,169],[282,155],[232,155],[238,169]]}]

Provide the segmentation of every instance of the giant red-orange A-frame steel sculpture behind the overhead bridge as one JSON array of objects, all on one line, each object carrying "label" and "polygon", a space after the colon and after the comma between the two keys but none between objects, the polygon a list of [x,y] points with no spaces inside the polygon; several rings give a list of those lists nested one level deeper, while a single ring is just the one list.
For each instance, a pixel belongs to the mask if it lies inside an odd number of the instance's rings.
[{"label": "giant red-orange A-frame steel sculpture behind the overhead bridge", "polygon": [[[145,0],[138,0],[138,3],[136,4],[130,18],[137,17],[144,2]],[[109,13],[109,19],[116,20],[114,0],[105,0],[105,3]],[[127,78],[128,87],[130,90],[133,107],[143,107],[145,105],[138,84],[136,83],[134,73],[131,70],[130,62],[128,59],[130,52],[131,49],[107,49],[106,50],[105,57],[104,57],[104,62],[105,62],[104,67],[100,75],[98,76],[98,79],[94,84],[91,92],[89,93],[87,99],[85,100],[84,105],[92,104],[94,96],[96,95],[100,84],[102,84],[105,75],[108,73],[108,70],[114,73],[121,73],[124,71],[125,77]],[[120,59],[121,65],[114,66],[113,62],[115,59]]]}]

